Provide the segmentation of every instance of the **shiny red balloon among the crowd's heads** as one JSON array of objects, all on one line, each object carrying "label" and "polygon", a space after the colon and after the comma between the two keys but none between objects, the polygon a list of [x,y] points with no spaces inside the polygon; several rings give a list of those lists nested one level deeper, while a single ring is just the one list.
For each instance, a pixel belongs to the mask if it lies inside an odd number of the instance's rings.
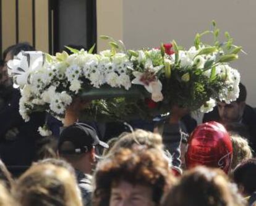
[{"label": "shiny red balloon among the crowd's heads", "polygon": [[189,137],[186,166],[189,169],[205,165],[228,173],[232,154],[232,142],[224,126],[217,122],[203,123]]}]

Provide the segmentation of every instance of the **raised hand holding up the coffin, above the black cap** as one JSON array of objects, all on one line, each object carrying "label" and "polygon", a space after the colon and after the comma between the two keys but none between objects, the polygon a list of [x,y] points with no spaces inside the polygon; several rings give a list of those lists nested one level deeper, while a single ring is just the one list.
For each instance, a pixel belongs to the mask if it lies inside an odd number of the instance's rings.
[{"label": "raised hand holding up the coffin, above the black cap", "polygon": [[90,102],[80,98],[74,99],[65,112],[64,126],[70,126],[77,122],[80,112],[85,109],[88,104],[90,104]]}]

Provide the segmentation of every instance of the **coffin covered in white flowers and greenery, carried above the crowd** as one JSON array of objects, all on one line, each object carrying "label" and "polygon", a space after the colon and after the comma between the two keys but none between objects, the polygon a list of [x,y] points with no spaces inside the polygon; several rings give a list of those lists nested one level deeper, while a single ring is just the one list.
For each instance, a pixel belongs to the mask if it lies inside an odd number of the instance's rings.
[{"label": "coffin covered in white flowers and greenery, carried above the crowd", "polygon": [[[213,35],[204,44],[203,35]],[[43,52],[20,52],[8,62],[9,73],[20,87],[20,114],[46,110],[62,119],[77,97],[90,101],[88,120],[152,118],[169,112],[173,105],[208,112],[216,100],[231,102],[239,94],[240,75],[229,62],[241,47],[218,41],[219,30],[197,34],[186,50],[175,41],[159,48],[127,50],[122,41],[102,36],[110,49],[92,54],[83,49],[50,56]]]}]

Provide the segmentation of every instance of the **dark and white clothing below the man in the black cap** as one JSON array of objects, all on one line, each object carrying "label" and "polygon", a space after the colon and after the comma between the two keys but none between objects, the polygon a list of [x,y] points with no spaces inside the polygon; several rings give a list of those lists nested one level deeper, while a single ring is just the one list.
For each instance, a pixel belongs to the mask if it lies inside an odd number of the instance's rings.
[{"label": "dark and white clothing below the man in the black cap", "polygon": [[92,176],[79,170],[75,170],[75,175],[82,194],[83,206],[92,205]]}]

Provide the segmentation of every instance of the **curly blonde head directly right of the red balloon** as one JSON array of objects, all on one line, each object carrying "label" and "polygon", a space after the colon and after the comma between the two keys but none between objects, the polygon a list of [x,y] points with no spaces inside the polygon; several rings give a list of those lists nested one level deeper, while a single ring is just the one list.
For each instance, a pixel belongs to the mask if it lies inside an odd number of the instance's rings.
[{"label": "curly blonde head directly right of the red balloon", "polygon": [[231,168],[234,169],[242,161],[252,158],[252,150],[250,149],[248,141],[241,136],[231,135],[231,141],[233,144]]}]

